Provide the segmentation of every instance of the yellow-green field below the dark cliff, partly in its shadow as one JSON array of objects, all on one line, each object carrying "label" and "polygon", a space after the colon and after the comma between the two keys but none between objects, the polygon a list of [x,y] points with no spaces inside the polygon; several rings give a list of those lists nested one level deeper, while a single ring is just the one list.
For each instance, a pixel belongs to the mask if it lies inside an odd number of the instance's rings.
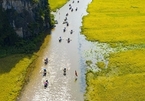
[{"label": "yellow-green field below the dark cliff, partly in its shadow", "polygon": [[14,101],[24,84],[27,67],[36,56],[15,54],[0,58],[0,100]]}]

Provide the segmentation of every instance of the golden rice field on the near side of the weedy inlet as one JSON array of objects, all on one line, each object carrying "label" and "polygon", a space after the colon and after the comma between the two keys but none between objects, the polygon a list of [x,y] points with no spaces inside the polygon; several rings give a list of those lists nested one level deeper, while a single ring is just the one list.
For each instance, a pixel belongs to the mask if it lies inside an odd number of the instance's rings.
[{"label": "golden rice field on the near side of the weedy inlet", "polygon": [[144,101],[145,49],[111,54],[107,69],[87,73],[86,101]]}]

